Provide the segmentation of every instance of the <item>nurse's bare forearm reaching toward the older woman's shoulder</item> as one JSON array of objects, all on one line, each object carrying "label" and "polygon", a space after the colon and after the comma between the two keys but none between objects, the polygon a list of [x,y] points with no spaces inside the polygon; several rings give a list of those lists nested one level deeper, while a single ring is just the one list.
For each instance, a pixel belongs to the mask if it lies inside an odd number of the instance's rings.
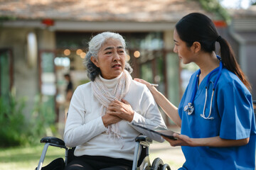
[{"label": "nurse's bare forearm reaching toward the older woman's shoulder", "polygon": [[178,115],[178,108],[174,106],[161,92],[159,92],[154,86],[149,88],[151,94],[154,96],[156,103],[163,109],[163,111],[168,115],[171,120],[174,121],[176,125],[181,127],[181,118]]}]

